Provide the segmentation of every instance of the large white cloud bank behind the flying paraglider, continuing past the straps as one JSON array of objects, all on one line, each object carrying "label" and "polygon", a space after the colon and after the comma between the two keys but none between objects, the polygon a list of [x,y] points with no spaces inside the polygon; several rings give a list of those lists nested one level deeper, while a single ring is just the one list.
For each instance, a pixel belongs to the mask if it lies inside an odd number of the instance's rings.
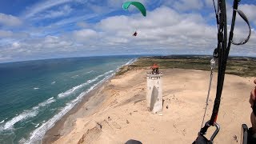
[{"label": "large white cloud bank behind the flying paraglider, continuing past the straps", "polygon": [[[146,18],[142,18],[140,14],[106,18],[98,23],[97,28],[102,30],[102,42],[115,47],[128,46],[134,52],[138,46],[146,46],[151,50],[160,46],[167,51],[179,49],[185,52],[192,49],[189,51],[212,54],[213,47],[217,44],[216,26],[208,25],[201,14],[178,14],[167,7],[149,12]],[[138,30],[136,38],[131,36],[134,30]],[[236,30],[234,38],[236,35],[243,36],[246,29],[237,26]],[[248,51],[254,50],[253,42],[256,42],[254,34],[249,44],[241,47]],[[234,54],[241,48],[232,46],[231,49],[231,54]]]}]

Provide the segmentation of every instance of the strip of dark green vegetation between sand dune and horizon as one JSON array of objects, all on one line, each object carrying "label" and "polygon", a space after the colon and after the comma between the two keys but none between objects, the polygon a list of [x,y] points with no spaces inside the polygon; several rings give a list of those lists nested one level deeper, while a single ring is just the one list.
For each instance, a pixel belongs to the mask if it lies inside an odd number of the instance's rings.
[{"label": "strip of dark green vegetation between sand dune and horizon", "polygon": [[[153,63],[157,63],[160,69],[179,68],[194,70],[210,70],[210,56],[158,56],[142,57],[130,66],[123,66],[117,73],[121,75],[128,70],[149,69]],[[218,62],[216,62],[216,65]],[[217,72],[218,66],[215,68]],[[226,65],[226,74],[235,74],[242,77],[254,77],[256,75],[256,58],[231,57]]]}]

